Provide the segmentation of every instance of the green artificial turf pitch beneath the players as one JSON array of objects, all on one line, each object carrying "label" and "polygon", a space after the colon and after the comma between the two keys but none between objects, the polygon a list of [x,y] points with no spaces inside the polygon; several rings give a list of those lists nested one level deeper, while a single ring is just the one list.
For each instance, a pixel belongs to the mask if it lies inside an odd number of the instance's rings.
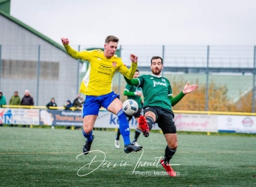
[{"label": "green artificial turf pitch beneath the players", "polygon": [[123,141],[114,148],[115,134],[95,130],[96,152],[80,155],[80,130],[0,127],[0,186],[256,185],[256,136],[178,134],[170,162],[178,177],[169,177],[157,162],[163,134],[139,136],[144,151],[132,154],[123,152]]}]

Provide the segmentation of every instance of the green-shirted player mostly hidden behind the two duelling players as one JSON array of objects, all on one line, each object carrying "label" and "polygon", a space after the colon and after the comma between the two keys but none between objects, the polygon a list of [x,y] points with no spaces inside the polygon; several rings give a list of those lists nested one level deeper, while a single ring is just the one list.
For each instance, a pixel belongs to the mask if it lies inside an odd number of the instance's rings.
[{"label": "green-shirted player mostly hidden behind the two duelling players", "polygon": [[[133,78],[137,78],[139,77],[139,70],[136,69]],[[137,121],[137,128],[135,130],[135,136],[133,139],[133,143],[135,144],[135,146],[139,146],[139,144],[137,143],[137,139],[139,138],[139,134],[142,132],[141,128],[139,127],[139,116],[141,116],[142,113],[142,88],[141,87],[135,87],[129,84],[126,84],[126,88],[123,91],[123,95],[127,96],[127,99],[133,99],[137,102],[138,104],[138,111],[133,114],[133,116],[135,117],[136,121]],[[128,121],[130,121],[133,116],[128,116],[126,114]],[[119,138],[120,138],[121,132],[118,129],[117,130],[117,136],[114,139],[114,146],[119,149],[120,148],[120,143],[119,143]]]}]

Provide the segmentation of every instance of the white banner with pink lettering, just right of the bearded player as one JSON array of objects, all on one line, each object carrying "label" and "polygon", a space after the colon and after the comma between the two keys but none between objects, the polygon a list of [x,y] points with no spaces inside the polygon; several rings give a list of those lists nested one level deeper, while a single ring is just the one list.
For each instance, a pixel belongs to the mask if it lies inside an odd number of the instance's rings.
[{"label": "white banner with pink lettering, just right of the bearded player", "polygon": [[218,132],[218,118],[207,114],[175,114],[176,129],[192,132]]}]

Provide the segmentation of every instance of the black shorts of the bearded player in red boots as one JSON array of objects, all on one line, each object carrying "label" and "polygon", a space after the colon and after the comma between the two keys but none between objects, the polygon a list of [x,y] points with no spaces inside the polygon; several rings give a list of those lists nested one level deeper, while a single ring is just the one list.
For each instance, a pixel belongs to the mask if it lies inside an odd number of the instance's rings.
[{"label": "black shorts of the bearded player in red boots", "polygon": [[162,107],[143,107],[143,115],[146,112],[153,112],[156,117],[155,123],[158,123],[158,127],[164,134],[175,134],[176,126],[174,123],[174,114],[171,109],[164,109]]}]

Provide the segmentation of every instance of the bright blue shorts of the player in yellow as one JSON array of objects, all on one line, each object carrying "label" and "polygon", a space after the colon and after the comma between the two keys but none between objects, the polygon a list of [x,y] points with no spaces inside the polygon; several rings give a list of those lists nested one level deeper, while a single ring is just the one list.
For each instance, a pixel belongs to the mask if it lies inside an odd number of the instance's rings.
[{"label": "bright blue shorts of the player in yellow", "polygon": [[87,115],[97,115],[99,114],[99,109],[104,107],[105,109],[112,103],[115,98],[119,98],[119,95],[114,94],[112,91],[110,94],[105,94],[103,96],[86,96],[85,103],[82,107],[82,117]]}]

